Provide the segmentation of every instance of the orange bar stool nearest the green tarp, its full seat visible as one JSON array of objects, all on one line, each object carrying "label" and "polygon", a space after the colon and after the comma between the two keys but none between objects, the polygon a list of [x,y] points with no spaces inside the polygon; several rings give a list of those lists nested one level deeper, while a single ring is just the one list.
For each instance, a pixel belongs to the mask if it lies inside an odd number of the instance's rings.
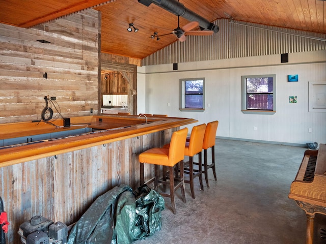
[{"label": "orange bar stool nearest the green tarp, its full seat visible", "polygon": [[[178,131],[175,131],[172,134],[170,147],[169,148],[151,148],[139,155],[140,165],[140,180],[141,184],[144,182],[144,163],[154,164],[155,165],[155,176],[154,179],[150,179],[145,182],[145,184],[149,184],[154,181],[155,190],[157,190],[157,184],[161,183],[164,185],[170,184],[170,194],[160,193],[162,196],[171,198],[171,205],[173,214],[176,214],[176,207],[174,202],[174,193],[180,188],[182,194],[182,201],[186,202],[185,194],[184,194],[184,177],[183,177],[183,159],[184,159],[184,144],[187,138],[188,129],[184,128]],[[180,176],[174,176],[174,166],[178,164],[180,167]],[[159,179],[158,175],[158,167],[162,165],[164,166],[164,177],[163,179]],[[167,181],[165,177],[166,167],[169,167],[169,181]],[[176,184],[175,184],[176,181]]]}]

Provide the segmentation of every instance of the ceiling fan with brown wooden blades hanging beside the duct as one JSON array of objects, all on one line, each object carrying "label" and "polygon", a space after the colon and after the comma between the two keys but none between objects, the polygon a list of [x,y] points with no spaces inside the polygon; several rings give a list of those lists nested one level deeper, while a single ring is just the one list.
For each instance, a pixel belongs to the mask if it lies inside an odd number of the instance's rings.
[{"label": "ceiling fan with brown wooden blades hanging beside the duct", "polygon": [[[199,28],[199,23],[197,21],[189,22],[189,23],[185,24],[184,26],[180,27],[179,16],[178,16],[178,27],[175,28],[172,31],[172,33],[161,35],[160,37],[174,34],[180,42],[184,42],[186,39],[186,36],[211,36],[214,34],[213,31],[200,31],[200,30],[198,30],[198,28]],[[194,30],[194,29],[196,29],[196,30]],[[157,33],[156,33],[156,35],[157,35]]]}]

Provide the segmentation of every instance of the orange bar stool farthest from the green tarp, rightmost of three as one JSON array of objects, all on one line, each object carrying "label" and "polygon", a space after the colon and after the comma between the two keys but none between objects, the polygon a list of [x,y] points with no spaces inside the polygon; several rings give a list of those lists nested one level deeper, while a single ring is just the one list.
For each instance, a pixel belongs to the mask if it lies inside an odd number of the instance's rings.
[{"label": "orange bar stool farthest from the green tarp, rightmost of three", "polygon": [[[216,139],[216,131],[218,130],[219,121],[215,120],[207,124],[206,130],[205,130],[205,136],[203,141],[203,149],[204,149],[204,164],[202,166],[204,167],[203,174],[205,175],[206,185],[209,187],[208,183],[208,169],[212,168],[214,179],[218,180],[216,178],[216,170],[215,170],[215,139]],[[210,165],[207,164],[207,149],[211,148],[212,153],[212,163]],[[199,162],[200,164],[200,162]]]}]

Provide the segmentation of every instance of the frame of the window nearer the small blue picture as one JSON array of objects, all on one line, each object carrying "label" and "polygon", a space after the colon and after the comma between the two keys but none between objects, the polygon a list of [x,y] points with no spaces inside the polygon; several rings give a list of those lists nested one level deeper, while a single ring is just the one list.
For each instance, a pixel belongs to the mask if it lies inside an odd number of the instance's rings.
[{"label": "frame of the window nearer the small blue picture", "polygon": [[[263,109],[247,109],[247,79],[248,78],[261,78],[273,77],[273,110]],[[242,82],[242,113],[245,114],[267,114],[272,115],[276,113],[276,74],[273,75],[244,75],[241,76]],[[263,93],[262,93],[263,94]]]}]

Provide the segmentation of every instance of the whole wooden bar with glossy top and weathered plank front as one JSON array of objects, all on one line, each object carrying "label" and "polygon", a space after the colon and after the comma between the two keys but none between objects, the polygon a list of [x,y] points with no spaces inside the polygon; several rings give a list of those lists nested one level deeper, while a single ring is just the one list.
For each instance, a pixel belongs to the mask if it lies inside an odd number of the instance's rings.
[{"label": "whole wooden bar with glossy top and weathered plank front", "polygon": [[[147,122],[147,123],[146,123]],[[169,143],[191,118],[102,115],[70,118],[52,124],[24,122],[0,125],[0,140],[31,138],[0,147],[0,196],[8,214],[7,243],[20,242],[19,225],[40,215],[66,225],[76,222],[92,202],[119,184],[139,186],[138,155]],[[82,134],[70,132],[87,128]],[[70,132],[69,132],[70,131]],[[38,136],[63,137],[35,140]],[[68,135],[68,136],[67,136]],[[32,140],[32,142],[31,142]],[[153,175],[151,167],[145,175]]]}]

